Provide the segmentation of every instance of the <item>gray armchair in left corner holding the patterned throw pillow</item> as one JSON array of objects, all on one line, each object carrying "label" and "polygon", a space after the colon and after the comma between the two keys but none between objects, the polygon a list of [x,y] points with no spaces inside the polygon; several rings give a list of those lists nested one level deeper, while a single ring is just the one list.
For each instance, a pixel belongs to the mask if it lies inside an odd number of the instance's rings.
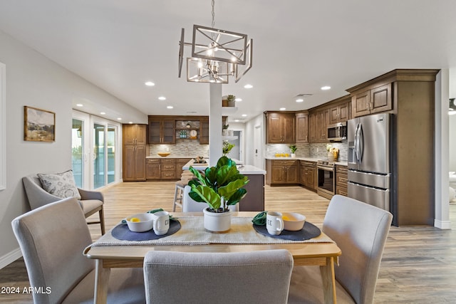
[{"label": "gray armchair in left corner holding the patterned throw pillow", "polygon": [[[32,174],[22,178],[24,189],[26,190],[28,203],[30,208],[36,209],[40,206],[52,203],[54,201],[60,201],[62,198],[56,195],[50,194],[43,189],[40,179],[37,174]],[[101,192],[88,191],[78,188],[81,200],[79,203],[83,209],[86,218],[98,212],[98,221],[88,221],[87,224],[100,224],[101,234],[105,234],[105,216],[103,213],[104,198]]]}]

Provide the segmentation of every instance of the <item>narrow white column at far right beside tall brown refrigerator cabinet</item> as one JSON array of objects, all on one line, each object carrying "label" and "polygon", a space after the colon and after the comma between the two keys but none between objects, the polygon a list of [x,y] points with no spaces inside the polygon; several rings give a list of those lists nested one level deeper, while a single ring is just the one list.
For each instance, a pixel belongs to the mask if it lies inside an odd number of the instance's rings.
[{"label": "narrow white column at far right beside tall brown refrigerator cabinet", "polygon": [[435,219],[434,226],[451,229],[448,189],[449,144],[448,100],[449,70],[442,69],[435,80]]}]

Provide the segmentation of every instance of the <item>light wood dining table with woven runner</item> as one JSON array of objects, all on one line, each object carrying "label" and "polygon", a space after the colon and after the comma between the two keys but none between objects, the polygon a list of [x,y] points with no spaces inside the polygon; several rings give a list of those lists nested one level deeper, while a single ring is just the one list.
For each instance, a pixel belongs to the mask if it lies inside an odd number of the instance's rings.
[{"label": "light wood dining table with woven runner", "polygon": [[118,224],[83,251],[84,256],[96,262],[94,303],[106,303],[111,268],[142,268],[144,257],[149,251],[226,253],[271,249],[289,251],[294,266],[320,266],[325,303],[336,303],[334,264],[338,263],[338,256],[341,256],[337,244],[323,231],[304,241],[259,234],[252,224],[255,215],[257,212],[235,211],[232,214],[232,228],[224,234],[214,234],[204,229],[202,212],[172,212],[172,218],[178,221],[180,230],[150,241],[116,239],[113,231],[123,225]]}]

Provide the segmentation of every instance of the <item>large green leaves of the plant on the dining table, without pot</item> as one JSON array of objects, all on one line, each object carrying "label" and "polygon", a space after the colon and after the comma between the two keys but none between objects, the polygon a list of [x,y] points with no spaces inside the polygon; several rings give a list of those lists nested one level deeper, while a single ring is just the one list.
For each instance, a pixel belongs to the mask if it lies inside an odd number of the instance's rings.
[{"label": "large green leaves of the plant on the dining table, without pot", "polygon": [[204,174],[194,167],[190,171],[197,179],[188,184],[192,187],[190,197],[209,206],[209,211],[226,212],[229,205],[237,204],[247,194],[244,186],[249,182],[239,173],[236,162],[222,156],[215,167],[208,167]]}]

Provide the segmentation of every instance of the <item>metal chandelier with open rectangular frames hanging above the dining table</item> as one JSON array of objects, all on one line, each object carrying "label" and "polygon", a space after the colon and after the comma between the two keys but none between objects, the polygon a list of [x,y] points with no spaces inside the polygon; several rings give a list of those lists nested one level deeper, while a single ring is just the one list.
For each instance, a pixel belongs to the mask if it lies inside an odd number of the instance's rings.
[{"label": "metal chandelier with open rectangular frames hanging above the dining table", "polygon": [[212,27],[193,26],[192,43],[186,43],[182,28],[179,42],[179,77],[184,61],[184,46],[192,47],[187,58],[187,81],[194,83],[228,83],[229,76],[237,83],[252,68],[253,40],[243,33],[214,28],[214,0]]}]

